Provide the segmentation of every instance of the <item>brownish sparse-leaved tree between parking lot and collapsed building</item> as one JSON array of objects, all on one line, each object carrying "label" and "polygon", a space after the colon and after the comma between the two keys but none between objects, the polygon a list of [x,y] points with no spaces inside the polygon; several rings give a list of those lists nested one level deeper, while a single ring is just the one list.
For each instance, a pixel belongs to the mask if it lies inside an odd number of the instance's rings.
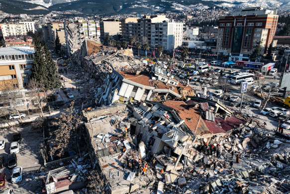
[{"label": "brownish sparse-leaved tree between parking lot and collapsed building", "polygon": [[56,128],[49,134],[51,136],[48,140],[51,144],[50,156],[63,156],[68,151],[70,140],[74,139],[72,142],[77,142],[76,132],[80,123],[80,117],[74,111],[74,101],[72,101],[69,108],[65,109],[65,112],[62,112],[61,116],[56,117],[55,121],[52,122]]}]

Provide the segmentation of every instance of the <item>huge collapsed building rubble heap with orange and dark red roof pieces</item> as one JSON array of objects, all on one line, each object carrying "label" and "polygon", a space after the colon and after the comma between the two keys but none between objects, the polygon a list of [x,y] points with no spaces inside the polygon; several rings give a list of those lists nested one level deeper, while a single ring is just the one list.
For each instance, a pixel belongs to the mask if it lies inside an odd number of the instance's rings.
[{"label": "huge collapsed building rubble heap with orange and dark red roof pieces", "polygon": [[[144,100],[84,110],[92,165],[105,175],[107,192],[289,191],[290,141],[263,130],[253,118],[230,114],[218,102],[199,101],[204,99]],[[204,151],[205,145],[220,155]],[[237,156],[240,161],[230,167]]]}]

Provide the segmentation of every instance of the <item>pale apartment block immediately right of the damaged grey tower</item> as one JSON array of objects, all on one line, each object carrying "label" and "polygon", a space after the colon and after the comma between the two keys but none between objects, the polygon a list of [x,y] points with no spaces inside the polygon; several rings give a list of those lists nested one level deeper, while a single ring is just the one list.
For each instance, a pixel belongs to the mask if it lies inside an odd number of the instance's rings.
[{"label": "pale apartment block immediately right of the damaged grey tower", "polygon": [[100,26],[98,21],[84,21],[85,39],[98,40],[100,37]]}]

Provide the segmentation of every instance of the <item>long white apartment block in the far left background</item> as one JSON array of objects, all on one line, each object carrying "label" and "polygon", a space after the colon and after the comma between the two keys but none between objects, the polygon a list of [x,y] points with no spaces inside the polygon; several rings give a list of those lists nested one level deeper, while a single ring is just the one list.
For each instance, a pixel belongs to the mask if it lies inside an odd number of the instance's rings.
[{"label": "long white apartment block in the far left background", "polygon": [[5,36],[23,36],[28,31],[35,31],[33,21],[17,21],[15,23],[1,23],[3,37]]}]

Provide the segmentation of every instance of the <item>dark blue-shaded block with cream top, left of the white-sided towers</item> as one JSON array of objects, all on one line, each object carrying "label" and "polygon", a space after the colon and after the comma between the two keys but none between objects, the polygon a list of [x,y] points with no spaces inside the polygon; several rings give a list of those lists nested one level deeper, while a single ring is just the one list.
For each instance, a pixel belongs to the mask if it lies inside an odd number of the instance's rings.
[{"label": "dark blue-shaded block with cream top, left of the white-sided towers", "polygon": [[129,40],[129,37],[137,34],[137,22],[140,17],[127,17],[121,20],[122,39]]}]

